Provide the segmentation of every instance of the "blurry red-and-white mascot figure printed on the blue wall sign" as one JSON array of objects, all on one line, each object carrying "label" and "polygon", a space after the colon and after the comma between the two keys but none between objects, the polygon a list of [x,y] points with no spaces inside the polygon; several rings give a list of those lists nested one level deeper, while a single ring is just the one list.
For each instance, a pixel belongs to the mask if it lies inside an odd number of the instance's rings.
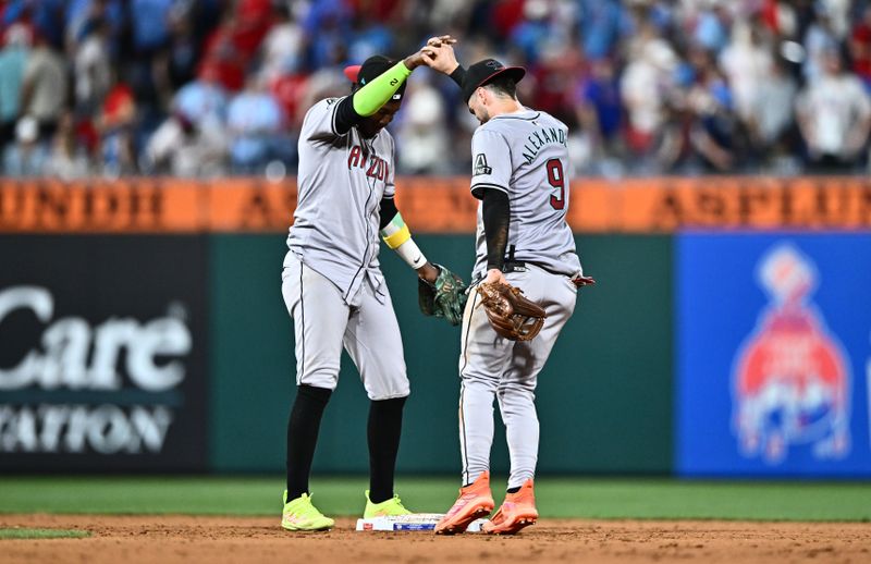
[{"label": "blurry red-and-white mascot figure printed on the blue wall sign", "polygon": [[735,359],[740,451],[769,464],[783,462],[790,445],[809,445],[817,459],[842,458],[850,447],[850,376],[842,345],[809,303],[817,269],[784,243],[762,257],[757,275],[770,305]]}]

